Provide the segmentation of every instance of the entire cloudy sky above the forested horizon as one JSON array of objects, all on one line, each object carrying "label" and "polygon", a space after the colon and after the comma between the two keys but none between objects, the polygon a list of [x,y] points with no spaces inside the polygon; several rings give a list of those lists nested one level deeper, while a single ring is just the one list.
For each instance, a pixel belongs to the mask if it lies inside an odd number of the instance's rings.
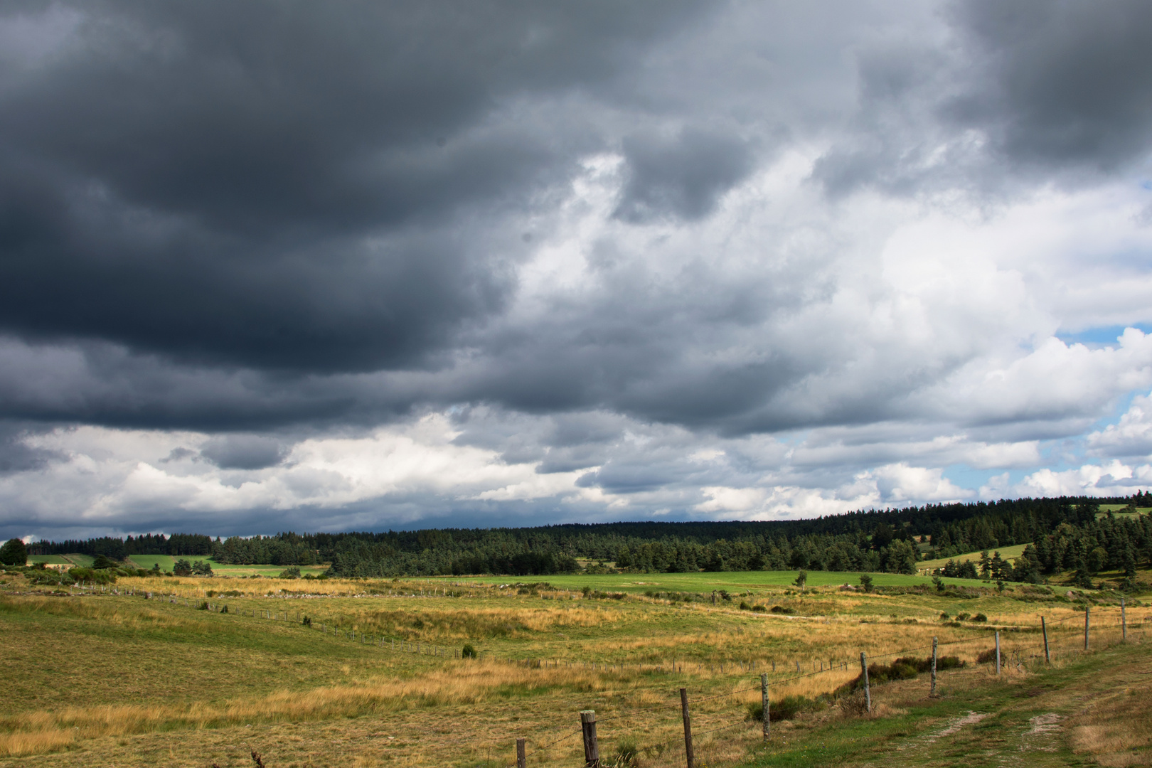
[{"label": "entire cloudy sky above the forested horizon", "polygon": [[0,535],[1152,489],[1152,5],[0,7]]}]

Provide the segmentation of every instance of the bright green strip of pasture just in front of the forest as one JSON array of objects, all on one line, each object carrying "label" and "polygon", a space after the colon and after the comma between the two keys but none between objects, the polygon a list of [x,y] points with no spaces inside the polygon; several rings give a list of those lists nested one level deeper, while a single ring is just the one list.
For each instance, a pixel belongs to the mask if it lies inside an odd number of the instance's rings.
[{"label": "bright green strip of pasture just in front of the forest", "polygon": [[[516,584],[547,581],[561,590],[582,590],[585,586],[604,592],[639,593],[654,592],[744,592],[766,587],[787,587],[796,580],[798,571],[711,571],[703,573],[601,573],[601,575],[556,575],[556,576],[482,576],[471,578],[480,584]],[[855,571],[809,571],[808,586],[838,586],[851,584],[858,586],[861,575]],[[912,586],[932,584],[927,576],[905,576],[903,573],[871,573],[872,584],[877,586]],[[452,577],[439,577],[450,579]],[[943,579],[946,584],[982,586],[977,579]]]}]

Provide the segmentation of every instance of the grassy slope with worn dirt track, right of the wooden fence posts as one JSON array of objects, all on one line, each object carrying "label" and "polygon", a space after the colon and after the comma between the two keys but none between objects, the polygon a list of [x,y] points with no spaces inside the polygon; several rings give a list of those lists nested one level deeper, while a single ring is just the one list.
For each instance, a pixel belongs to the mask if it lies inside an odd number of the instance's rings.
[{"label": "grassy slope with worn dirt track, right of the wooden fence posts", "polygon": [[[1152,763],[1152,642],[1115,645],[1056,668],[991,666],[941,675],[939,698],[924,677],[874,689],[886,716],[828,713],[779,728],[744,765],[1081,766]],[[977,717],[972,717],[972,714]],[[949,732],[952,731],[952,732]]]}]

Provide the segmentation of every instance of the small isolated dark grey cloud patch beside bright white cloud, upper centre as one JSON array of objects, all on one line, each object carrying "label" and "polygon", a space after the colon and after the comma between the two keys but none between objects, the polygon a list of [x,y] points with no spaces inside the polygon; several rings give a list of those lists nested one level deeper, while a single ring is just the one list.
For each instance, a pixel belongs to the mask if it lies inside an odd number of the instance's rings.
[{"label": "small isolated dark grey cloud patch beside bright white cloud, upper centre", "polygon": [[752,169],[743,142],[702,130],[685,130],[670,139],[631,136],[623,149],[629,180],[616,215],[631,222],[700,219]]}]

